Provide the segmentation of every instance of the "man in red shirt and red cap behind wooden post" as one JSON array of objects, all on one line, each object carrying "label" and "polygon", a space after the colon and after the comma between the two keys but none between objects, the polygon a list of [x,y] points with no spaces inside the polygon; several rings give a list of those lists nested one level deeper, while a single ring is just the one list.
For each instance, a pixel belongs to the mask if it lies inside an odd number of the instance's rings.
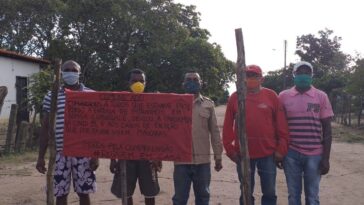
[{"label": "man in red shirt and red cap behind wooden post", "polygon": [[[282,168],[283,157],[288,149],[288,127],[282,104],[277,94],[261,86],[262,70],[257,65],[249,65],[246,72],[246,136],[250,156],[251,193],[255,185],[255,170],[258,169],[262,205],[276,205],[276,166]],[[227,156],[236,163],[242,188],[242,174],[239,157],[239,139],[237,137],[236,120],[238,115],[237,93],[233,93],[226,107],[223,142]],[[251,196],[252,204],[254,197]],[[243,204],[240,196],[240,205]]]}]

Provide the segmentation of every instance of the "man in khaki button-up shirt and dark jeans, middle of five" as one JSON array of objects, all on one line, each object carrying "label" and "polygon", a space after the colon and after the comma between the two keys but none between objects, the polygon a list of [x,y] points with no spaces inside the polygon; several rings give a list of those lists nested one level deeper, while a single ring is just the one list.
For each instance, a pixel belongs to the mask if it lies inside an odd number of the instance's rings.
[{"label": "man in khaki button-up shirt and dark jeans, middle of five", "polygon": [[[222,169],[222,143],[217,126],[215,105],[200,94],[201,78],[197,72],[185,74],[183,87],[194,95],[192,108],[192,162],[174,163],[173,205],[186,205],[191,183],[196,205],[208,205],[210,201],[210,146],[214,152],[215,170]],[[211,144],[211,145],[210,145]]]}]

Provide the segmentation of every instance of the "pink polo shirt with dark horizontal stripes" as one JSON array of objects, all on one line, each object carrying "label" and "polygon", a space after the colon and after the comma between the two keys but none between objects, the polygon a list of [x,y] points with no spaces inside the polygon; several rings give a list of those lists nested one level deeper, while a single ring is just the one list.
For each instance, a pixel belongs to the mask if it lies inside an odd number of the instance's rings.
[{"label": "pink polo shirt with dark horizontal stripes", "polygon": [[305,155],[322,153],[321,119],[334,116],[326,93],[311,87],[299,93],[295,87],[279,94],[288,121],[289,148]]}]

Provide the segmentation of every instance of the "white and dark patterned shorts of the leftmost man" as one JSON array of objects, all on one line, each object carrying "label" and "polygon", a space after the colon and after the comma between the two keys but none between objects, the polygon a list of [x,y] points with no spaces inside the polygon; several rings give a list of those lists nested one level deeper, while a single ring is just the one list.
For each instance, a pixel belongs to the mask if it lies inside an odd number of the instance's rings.
[{"label": "white and dark patterned shorts of the leftmost man", "polygon": [[66,157],[56,153],[54,168],[54,196],[65,196],[70,191],[71,176],[73,189],[78,194],[89,194],[96,191],[96,176],[90,169],[90,158]]}]

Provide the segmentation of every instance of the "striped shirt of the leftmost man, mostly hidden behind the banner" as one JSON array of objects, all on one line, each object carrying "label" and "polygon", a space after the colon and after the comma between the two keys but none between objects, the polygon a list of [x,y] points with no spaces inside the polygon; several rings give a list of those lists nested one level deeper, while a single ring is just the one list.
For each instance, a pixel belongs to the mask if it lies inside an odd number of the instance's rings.
[{"label": "striped shirt of the leftmost man, mostly hidden behind the banner", "polygon": [[[92,92],[90,88],[85,87],[81,84],[80,90],[84,92]],[[43,99],[43,111],[49,113],[51,111],[51,98],[52,92],[48,91],[47,95]],[[63,130],[64,130],[64,108],[66,104],[66,96],[64,88],[60,88],[58,92],[58,100],[57,100],[57,114],[56,114],[56,128],[55,128],[55,137],[56,137],[56,150],[63,150]]]}]

